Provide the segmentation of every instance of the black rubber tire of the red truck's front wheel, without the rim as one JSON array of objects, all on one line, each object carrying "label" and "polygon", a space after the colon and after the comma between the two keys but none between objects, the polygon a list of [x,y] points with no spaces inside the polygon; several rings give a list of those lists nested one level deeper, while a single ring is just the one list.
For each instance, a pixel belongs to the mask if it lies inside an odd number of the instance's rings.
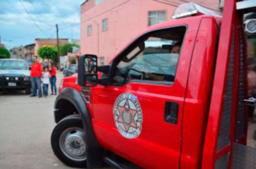
[{"label": "black rubber tire of the red truck's front wheel, without the rim", "polygon": [[73,114],[70,116],[67,116],[60,120],[58,124],[55,126],[54,130],[52,131],[51,136],[51,144],[52,144],[52,150],[54,151],[54,154],[66,165],[70,167],[79,167],[79,168],[86,168],[87,163],[86,159],[83,161],[75,161],[73,159],[70,159],[67,155],[65,155],[61,148],[60,148],[60,136],[61,134],[68,128],[81,128],[82,126],[82,120],[80,118],[80,115]]}]

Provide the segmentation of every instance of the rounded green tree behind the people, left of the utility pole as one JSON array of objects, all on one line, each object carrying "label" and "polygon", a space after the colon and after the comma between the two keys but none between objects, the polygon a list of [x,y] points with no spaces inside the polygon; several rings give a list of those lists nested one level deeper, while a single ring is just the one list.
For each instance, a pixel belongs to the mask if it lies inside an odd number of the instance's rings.
[{"label": "rounded green tree behind the people, left of the utility pole", "polygon": [[57,59],[57,48],[52,46],[44,46],[38,49],[39,57],[42,59]]}]

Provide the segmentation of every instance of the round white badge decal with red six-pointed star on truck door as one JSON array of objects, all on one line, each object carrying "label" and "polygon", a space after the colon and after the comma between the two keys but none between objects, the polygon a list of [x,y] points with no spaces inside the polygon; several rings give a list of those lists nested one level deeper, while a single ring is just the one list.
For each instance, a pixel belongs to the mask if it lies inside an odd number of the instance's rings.
[{"label": "round white badge decal with red six-pointed star on truck door", "polygon": [[142,110],[139,100],[131,93],[120,94],[116,98],[114,120],[120,134],[128,139],[140,135],[142,128]]}]

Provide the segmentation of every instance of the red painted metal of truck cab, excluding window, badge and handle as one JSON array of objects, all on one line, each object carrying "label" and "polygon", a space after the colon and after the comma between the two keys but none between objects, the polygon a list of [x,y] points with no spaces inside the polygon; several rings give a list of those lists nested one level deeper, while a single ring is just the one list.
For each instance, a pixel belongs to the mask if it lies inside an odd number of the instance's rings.
[{"label": "red painted metal of truck cab, excluding window, badge and handle", "polygon": [[[102,147],[145,168],[169,168],[170,164],[172,168],[200,166],[209,104],[207,98],[211,94],[215,60],[212,51],[215,51],[220,20],[214,16],[172,20],[152,26],[138,35],[172,26],[187,26],[174,85],[128,83],[92,87],[88,108],[96,138]],[[80,91],[80,86],[74,83],[76,77],[65,78],[63,88]],[[143,112],[142,133],[136,139],[121,136],[113,118],[116,98],[127,92],[137,96]],[[179,104],[176,125],[164,122],[167,100]]]}]

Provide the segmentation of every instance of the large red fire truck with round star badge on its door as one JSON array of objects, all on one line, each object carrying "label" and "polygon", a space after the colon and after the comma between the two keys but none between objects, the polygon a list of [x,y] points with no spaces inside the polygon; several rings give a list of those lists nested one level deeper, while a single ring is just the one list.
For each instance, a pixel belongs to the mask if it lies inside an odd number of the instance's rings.
[{"label": "large red fire truck with round star badge on its door", "polygon": [[194,7],[142,31],[109,65],[98,66],[95,55],[80,57],[76,87],[64,88],[54,105],[51,143],[62,162],[256,167],[256,149],[246,146],[246,104],[253,100],[243,22],[256,1],[225,0],[222,17]]}]

